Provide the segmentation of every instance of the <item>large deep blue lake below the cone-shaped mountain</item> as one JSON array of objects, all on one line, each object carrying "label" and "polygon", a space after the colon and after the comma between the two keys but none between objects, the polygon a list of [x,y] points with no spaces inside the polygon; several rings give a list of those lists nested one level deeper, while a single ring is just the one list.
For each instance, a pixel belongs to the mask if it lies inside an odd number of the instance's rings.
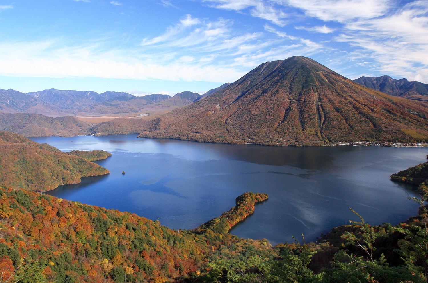
[{"label": "large deep blue lake below the cone-shaped mountain", "polygon": [[[231,233],[293,242],[313,241],[359,221],[397,224],[416,215],[409,185],[389,175],[425,162],[428,148],[377,146],[269,147],[145,139],[136,135],[37,137],[62,151],[102,149],[109,175],[48,192],[59,198],[130,211],[172,229],[192,229],[220,216],[242,193],[269,199]],[[122,174],[125,171],[125,174]]]}]

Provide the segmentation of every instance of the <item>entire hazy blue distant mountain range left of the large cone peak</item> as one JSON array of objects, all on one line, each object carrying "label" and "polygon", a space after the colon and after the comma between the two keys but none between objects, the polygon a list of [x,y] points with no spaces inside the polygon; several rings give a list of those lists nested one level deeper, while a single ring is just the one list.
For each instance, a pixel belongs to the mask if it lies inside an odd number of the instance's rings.
[{"label": "entire hazy blue distant mountain range left of the large cone peak", "polygon": [[48,116],[68,114],[129,114],[149,109],[175,109],[188,105],[201,95],[184,91],[174,96],[154,93],[147,96],[134,96],[125,92],[78,90],[42,90],[21,93],[17,90],[0,89],[0,112],[36,113]]}]

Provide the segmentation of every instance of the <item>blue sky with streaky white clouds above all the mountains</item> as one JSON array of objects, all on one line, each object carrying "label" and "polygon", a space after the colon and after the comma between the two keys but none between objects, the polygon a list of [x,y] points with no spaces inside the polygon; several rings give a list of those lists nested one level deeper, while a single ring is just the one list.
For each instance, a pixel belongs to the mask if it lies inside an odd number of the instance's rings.
[{"label": "blue sky with streaky white clouds above all the mountains", "polygon": [[307,56],[428,83],[428,1],[0,0],[0,88],[204,93]]}]

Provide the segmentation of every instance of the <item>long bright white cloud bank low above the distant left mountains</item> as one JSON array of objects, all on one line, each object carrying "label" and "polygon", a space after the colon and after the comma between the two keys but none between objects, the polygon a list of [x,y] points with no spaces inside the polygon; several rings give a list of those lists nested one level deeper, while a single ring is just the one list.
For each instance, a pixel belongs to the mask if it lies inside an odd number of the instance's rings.
[{"label": "long bright white cloud bank low above the distant left mountains", "polygon": [[[0,75],[30,77],[98,77],[140,80],[226,82],[243,75],[231,67],[200,66],[186,60],[137,60],[121,50],[100,46],[59,46],[60,40],[0,43]],[[182,58],[185,58],[184,56]]]}]

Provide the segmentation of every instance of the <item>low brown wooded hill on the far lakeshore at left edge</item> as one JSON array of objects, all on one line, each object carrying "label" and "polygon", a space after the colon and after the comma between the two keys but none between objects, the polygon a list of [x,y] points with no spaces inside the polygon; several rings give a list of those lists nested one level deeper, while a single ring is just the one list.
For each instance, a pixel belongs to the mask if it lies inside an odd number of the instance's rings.
[{"label": "low brown wooded hill on the far lakeshore at left edge", "polygon": [[0,130],[25,137],[77,136],[89,134],[90,124],[72,116],[48,117],[42,114],[0,113]]}]

